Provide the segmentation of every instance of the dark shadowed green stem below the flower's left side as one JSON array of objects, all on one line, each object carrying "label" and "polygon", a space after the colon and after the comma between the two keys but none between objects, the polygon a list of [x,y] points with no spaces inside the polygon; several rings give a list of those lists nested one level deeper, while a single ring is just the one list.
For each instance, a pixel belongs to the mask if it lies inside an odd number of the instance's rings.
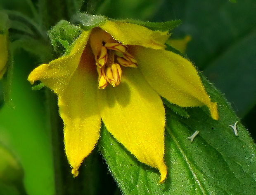
[{"label": "dark shadowed green stem below the flower's left side", "polygon": [[69,166],[64,151],[63,142],[63,122],[59,117],[59,108],[57,106],[57,96],[52,91],[46,89],[47,113],[49,118],[49,127],[52,132],[52,150],[55,172],[55,190],[58,195],[83,194],[81,186],[83,182],[81,176],[73,178],[71,167]]}]

